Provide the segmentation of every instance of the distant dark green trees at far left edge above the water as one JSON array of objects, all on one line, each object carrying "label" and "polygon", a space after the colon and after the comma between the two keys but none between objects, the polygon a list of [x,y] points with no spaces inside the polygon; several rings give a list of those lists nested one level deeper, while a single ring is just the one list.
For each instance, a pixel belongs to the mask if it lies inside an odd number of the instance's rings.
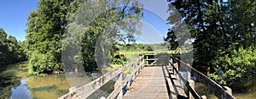
[{"label": "distant dark green trees at far left edge above the water", "polygon": [[22,48],[23,44],[24,42],[18,42],[15,36],[8,36],[0,28],[0,66],[26,60],[26,54]]}]

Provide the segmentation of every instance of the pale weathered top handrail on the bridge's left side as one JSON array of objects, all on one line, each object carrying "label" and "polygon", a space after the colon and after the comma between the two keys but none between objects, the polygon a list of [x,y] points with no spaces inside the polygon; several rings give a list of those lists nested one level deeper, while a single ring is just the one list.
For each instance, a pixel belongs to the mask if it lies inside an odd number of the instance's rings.
[{"label": "pale weathered top handrail on the bridge's left side", "polygon": [[[86,97],[90,96],[93,92],[95,92],[97,89],[102,87],[102,85],[105,85],[109,80],[113,80],[114,77],[116,77],[119,74],[122,74],[123,71],[125,69],[127,69],[128,67],[137,66],[135,63],[139,62],[137,69],[142,68],[143,67],[143,58],[144,58],[144,56],[141,56],[141,57],[131,61],[130,63],[126,63],[125,66],[120,67],[119,69],[116,69],[112,72],[109,72],[108,74],[104,74],[101,77],[97,78],[96,80],[91,81],[90,83],[88,83],[86,85],[83,85],[79,88],[73,88],[72,91],[70,91],[69,93],[67,93],[64,96],[59,97],[59,99],[67,99],[67,98],[69,99],[69,98],[78,98],[78,97],[86,98]],[[137,69],[133,69],[133,70],[137,70]],[[136,71],[131,71],[131,72],[135,73]],[[124,86],[125,81],[130,80],[130,79],[131,78],[125,79],[124,81],[122,81],[123,84],[116,86],[114,91],[115,92],[122,91],[122,88],[123,88],[122,85]],[[111,95],[116,95],[116,94],[112,94],[112,93],[111,93]],[[110,97],[112,97],[112,96],[110,96]]]}]

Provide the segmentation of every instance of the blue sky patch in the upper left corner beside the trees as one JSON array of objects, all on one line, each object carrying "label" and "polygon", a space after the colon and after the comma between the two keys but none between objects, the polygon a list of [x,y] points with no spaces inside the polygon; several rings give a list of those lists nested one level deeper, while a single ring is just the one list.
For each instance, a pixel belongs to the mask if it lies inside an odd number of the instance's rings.
[{"label": "blue sky patch in the upper left corner beside the trees", "polygon": [[1,0],[0,28],[18,41],[24,41],[27,15],[37,8],[37,3],[38,0]]}]

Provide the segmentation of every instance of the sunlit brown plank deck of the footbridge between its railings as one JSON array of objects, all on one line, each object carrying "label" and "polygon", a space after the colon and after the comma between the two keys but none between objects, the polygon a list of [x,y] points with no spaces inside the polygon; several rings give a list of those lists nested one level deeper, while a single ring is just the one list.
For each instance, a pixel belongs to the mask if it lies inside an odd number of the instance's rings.
[{"label": "sunlit brown plank deck of the footbridge between its railings", "polygon": [[[177,92],[172,88],[172,81],[168,78],[166,69],[163,71],[161,66],[144,67],[142,73],[137,76],[123,98],[169,99],[166,81],[168,81],[171,87],[172,97],[170,98],[177,98]],[[177,81],[174,82],[177,83]],[[180,88],[178,88],[178,90],[180,90]]]}]

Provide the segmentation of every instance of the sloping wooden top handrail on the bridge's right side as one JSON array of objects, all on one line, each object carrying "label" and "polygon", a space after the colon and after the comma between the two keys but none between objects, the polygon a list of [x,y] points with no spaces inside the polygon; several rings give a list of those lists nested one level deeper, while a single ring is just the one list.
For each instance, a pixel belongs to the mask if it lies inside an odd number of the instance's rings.
[{"label": "sloping wooden top handrail on the bridge's right side", "polygon": [[[173,61],[183,65],[182,66],[183,69],[185,69],[186,71],[190,71],[190,73],[193,74],[197,80],[199,80],[202,84],[206,85],[207,88],[209,88],[210,91],[212,91],[214,93],[214,95],[217,96],[218,98],[220,98],[220,99],[235,99],[235,97],[232,96],[232,93],[230,93],[230,91],[227,91],[227,89],[226,89],[227,86],[222,87],[221,85],[218,85],[215,81],[208,78],[205,74],[202,74],[201,72],[192,68],[189,64],[183,63],[181,60],[174,58],[172,56],[171,56],[171,58]],[[193,93],[194,93],[193,90],[191,93],[193,95]],[[197,96],[197,95],[193,95],[193,96]]]}]

